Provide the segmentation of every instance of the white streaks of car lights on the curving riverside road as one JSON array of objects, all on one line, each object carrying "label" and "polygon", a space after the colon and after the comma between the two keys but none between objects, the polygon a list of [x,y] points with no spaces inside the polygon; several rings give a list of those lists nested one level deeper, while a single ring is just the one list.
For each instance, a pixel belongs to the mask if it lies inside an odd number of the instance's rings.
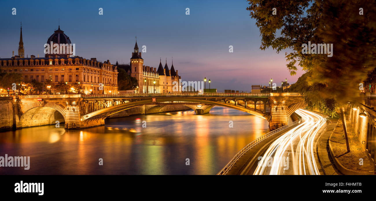
[{"label": "white streaks of car lights on the curving riverside road", "polygon": [[[258,162],[254,175],[280,174],[284,172],[284,167],[289,166],[293,168],[295,175],[320,174],[314,157],[314,144],[315,137],[324,126],[326,119],[308,110],[298,109],[296,113],[304,119],[304,122],[280,136],[270,145]],[[290,152],[292,156],[289,156]],[[289,158],[292,158],[291,163]]]}]

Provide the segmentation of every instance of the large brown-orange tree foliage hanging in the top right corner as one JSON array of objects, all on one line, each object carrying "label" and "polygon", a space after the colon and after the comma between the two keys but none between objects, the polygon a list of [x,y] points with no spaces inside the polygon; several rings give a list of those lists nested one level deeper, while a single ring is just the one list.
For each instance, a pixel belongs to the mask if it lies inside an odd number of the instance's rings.
[{"label": "large brown-orange tree foliage hanging in the top right corner", "polygon": [[[341,104],[354,100],[359,83],[376,64],[376,2],[374,0],[248,0],[256,20],[261,49],[285,53],[287,68],[311,71],[308,84],[321,83],[323,98]],[[272,14],[276,8],[276,15]],[[363,15],[359,14],[363,9]],[[333,56],[303,54],[302,44],[333,44]]]}]

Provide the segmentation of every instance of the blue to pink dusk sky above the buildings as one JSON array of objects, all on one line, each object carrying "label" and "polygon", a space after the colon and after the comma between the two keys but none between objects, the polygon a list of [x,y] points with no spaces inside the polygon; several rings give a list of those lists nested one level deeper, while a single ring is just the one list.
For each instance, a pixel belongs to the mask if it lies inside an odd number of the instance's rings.
[{"label": "blue to pink dusk sky above the buildings", "polygon": [[[22,21],[25,56],[44,56],[43,45],[60,29],[76,44],[76,55],[86,59],[129,63],[137,36],[144,65],[178,70],[182,81],[211,79],[211,88],[250,91],[251,85],[268,85],[290,76],[285,51],[260,50],[261,37],[245,0],[176,1],[2,1],[0,57],[17,54]],[[12,8],[17,15],[12,15]],[[99,15],[103,8],[103,15]],[[185,14],[190,8],[190,15]],[[229,53],[233,45],[233,53]],[[208,88],[208,86],[207,86]]]}]

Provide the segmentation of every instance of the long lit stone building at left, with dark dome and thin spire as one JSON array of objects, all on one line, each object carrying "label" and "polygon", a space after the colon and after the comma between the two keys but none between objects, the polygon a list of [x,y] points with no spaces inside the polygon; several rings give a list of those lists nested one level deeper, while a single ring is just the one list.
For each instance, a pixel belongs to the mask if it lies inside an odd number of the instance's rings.
[{"label": "long lit stone building at left, with dark dome and thin spire", "polygon": [[[71,41],[59,26],[59,29],[47,40],[47,44],[51,43],[70,44]],[[24,54],[22,28],[18,52]],[[85,94],[118,93],[117,68],[109,60],[99,62],[96,58],[70,57],[69,52],[45,54],[45,57],[31,55],[30,58],[17,55],[11,58],[0,58],[0,69],[2,72],[21,73],[23,82],[50,80],[54,84],[58,82],[66,82],[68,85],[79,83],[80,89]]]}]

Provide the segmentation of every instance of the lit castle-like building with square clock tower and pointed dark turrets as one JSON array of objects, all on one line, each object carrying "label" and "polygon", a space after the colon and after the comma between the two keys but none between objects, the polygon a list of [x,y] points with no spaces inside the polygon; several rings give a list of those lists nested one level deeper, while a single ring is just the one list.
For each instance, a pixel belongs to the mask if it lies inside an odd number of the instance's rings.
[{"label": "lit castle-like building with square clock tower and pointed dark turrets", "polygon": [[[181,77],[175,71],[173,62],[171,63],[171,70],[168,68],[167,59],[165,66],[162,66],[162,61],[159,60],[158,70],[156,68],[145,66],[144,59],[141,57],[141,52],[138,51],[137,41],[133,48],[132,57],[129,64],[118,64],[118,68],[123,68],[130,76],[135,77],[138,83],[138,93],[173,93],[181,92],[181,84],[179,79]],[[173,89],[173,82],[178,83],[176,90]]]}]

